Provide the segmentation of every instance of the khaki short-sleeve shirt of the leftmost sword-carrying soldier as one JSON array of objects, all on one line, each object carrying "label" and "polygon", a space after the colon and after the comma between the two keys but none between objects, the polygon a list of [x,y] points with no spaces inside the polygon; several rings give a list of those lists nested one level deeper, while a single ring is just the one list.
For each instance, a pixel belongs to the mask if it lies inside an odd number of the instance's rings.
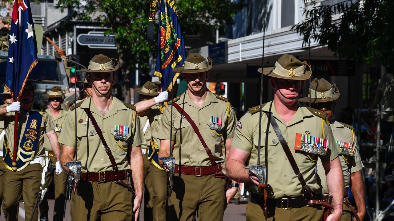
[{"label": "khaki short-sleeve shirt of the leftmost sword-carrying soldier", "polygon": [[[127,162],[127,152],[132,147],[141,145],[141,128],[139,117],[135,110],[125,106],[119,99],[113,97],[112,105],[105,116],[97,109],[93,99],[85,99],[79,107],[67,113],[58,142],[75,147],[75,128],[78,138],[77,159],[82,162],[82,171],[100,172],[113,171],[111,161],[92,123],[87,121],[84,109],[89,109],[97,121],[104,139],[111,149],[119,170],[130,169]],[[75,125],[76,111],[76,125]],[[128,126],[127,140],[115,140],[115,125]]]}]

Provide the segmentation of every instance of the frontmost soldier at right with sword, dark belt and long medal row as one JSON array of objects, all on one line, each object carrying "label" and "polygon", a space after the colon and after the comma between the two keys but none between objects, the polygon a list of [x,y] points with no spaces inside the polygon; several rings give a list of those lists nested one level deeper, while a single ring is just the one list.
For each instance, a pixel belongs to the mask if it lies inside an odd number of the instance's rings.
[{"label": "frontmost soldier at right with sword, dark belt and long medal row", "polygon": [[[261,69],[258,71],[261,73]],[[322,219],[321,206],[307,205],[309,200],[321,197],[314,193],[320,188],[314,176],[316,160],[319,156],[327,173],[330,193],[333,195],[334,212],[327,220],[338,220],[342,214],[343,199],[342,170],[338,160],[339,149],[330,128],[325,123],[324,112],[298,105],[303,83],[311,75],[309,66],[293,55],[282,55],[274,68],[264,68],[263,74],[271,77],[271,87],[275,90],[274,100],[261,107],[260,163],[266,165],[265,190],[267,195],[264,196],[264,192],[256,193],[255,185],[259,184],[258,177],[244,169],[246,161],[248,165],[257,164],[260,106],[250,108],[250,113],[245,114],[238,122],[226,164],[227,175],[239,182],[245,182],[245,188],[251,192],[246,208],[246,220],[264,220],[265,209],[268,210],[268,220],[318,221]],[[269,119],[266,113],[268,115],[271,113],[270,116],[273,116],[273,120],[278,124],[280,133],[283,134],[288,145],[284,148],[289,150],[289,154],[292,155],[291,159],[288,159],[285,154],[272,124],[268,124]],[[297,142],[303,145],[310,144],[309,140],[298,138],[297,133],[328,140],[328,144],[321,139],[318,143],[320,148],[327,149],[322,151],[313,144],[313,149],[308,148],[306,151],[301,151],[300,148],[295,149]],[[314,152],[315,150],[320,150],[320,152]],[[317,154],[324,152],[326,152],[325,155]],[[294,166],[299,169],[298,176],[302,175],[305,179],[303,185],[299,181],[301,178],[297,178],[291,162],[294,162]]]}]

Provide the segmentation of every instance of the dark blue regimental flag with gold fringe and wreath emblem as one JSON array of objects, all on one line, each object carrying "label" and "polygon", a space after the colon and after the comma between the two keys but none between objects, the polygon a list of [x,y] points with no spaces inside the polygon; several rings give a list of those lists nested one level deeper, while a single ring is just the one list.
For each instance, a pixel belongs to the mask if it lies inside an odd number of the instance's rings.
[{"label": "dark blue regimental flag with gold fringe and wreath emblem", "polygon": [[162,0],[158,29],[158,52],[154,74],[160,77],[163,91],[171,91],[173,81],[176,81],[180,74],[173,73],[173,68],[183,66],[185,59],[185,44],[180,31],[175,0]]}]

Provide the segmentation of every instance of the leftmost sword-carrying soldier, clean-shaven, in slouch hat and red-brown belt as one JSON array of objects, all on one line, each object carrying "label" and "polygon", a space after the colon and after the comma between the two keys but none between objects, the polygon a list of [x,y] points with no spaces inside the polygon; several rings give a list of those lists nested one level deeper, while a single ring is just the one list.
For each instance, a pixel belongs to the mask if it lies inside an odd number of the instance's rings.
[{"label": "leftmost sword-carrying soldier, clean-shaven, in slouch hat and red-brown belt", "polygon": [[[88,68],[80,70],[89,73],[87,82],[92,85],[93,94],[70,107],[59,137],[62,165],[73,160],[82,162],[81,180],[71,197],[73,221],[138,217],[143,194],[141,129],[135,107],[113,97],[113,72],[118,68],[117,60],[95,55]],[[68,168],[65,170],[70,173]],[[133,187],[128,181],[130,171]]]}]

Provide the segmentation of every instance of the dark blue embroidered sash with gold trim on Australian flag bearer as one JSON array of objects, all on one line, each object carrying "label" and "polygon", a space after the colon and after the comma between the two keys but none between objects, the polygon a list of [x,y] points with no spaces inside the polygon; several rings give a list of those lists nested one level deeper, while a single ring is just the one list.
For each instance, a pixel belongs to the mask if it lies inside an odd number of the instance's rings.
[{"label": "dark blue embroidered sash with gold trim on Australian flag bearer", "polygon": [[[30,160],[34,158],[34,153],[39,142],[39,131],[42,120],[43,115],[40,112],[29,112],[26,128],[22,134],[22,140],[20,141],[18,148],[17,171],[24,169],[30,163]],[[9,149],[6,137],[4,137],[3,156],[6,168],[12,171],[13,154]]]}]

